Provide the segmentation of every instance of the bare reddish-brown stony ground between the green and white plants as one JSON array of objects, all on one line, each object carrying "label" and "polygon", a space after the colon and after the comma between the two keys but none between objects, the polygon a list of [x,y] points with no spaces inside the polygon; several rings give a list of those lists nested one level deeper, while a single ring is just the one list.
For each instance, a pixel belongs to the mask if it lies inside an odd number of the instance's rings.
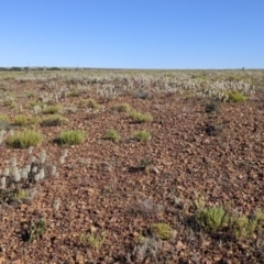
[{"label": "bare reddish-brown stony ground between the green and white plants", "polygon": [[[29,99],[24,91],[38,90],[43,82],[2,80],[8,84],[15,102],[23,106],[21,112],[1,106],[0,113],[12,123],[16,114],[29,113],[30,100],[37,99]],[[222,205],[249,217],[263,207],[264,103],[257,96],[241,103],[223,102],[219,113],[205,111],[206,99],[179,95],[101,100],[87,92],[59,105],[77,106],[86,97],[97,100],[98,112],[79,108],[64,113],[68,124],[35,127],[45,140],[33,155],[45,150],[57,175],[35,184],[31,199],[1,201],[0,264],[264,263],[262,230],[240,239],[207,232],[191,220],[201,198],[208,206]],[[150,112],[153,121],[135,123],[113,109],[124,102]],[[62,146],[54,139],[67,129],[84,130],[88,138],[80,145]],[[120,133],[120,141],[102,139],[109,129]],[[131,135],[138,130],[148,130],[151,140],[134,141]],[[68,156],[59,164],[64,148]],[[3,142],[0,169],[12,157],[24,166],[30,156],[28,150]],[[40,220],[45,232],[29,241]],[[168,224],[172,237],[156,238],[153,223]],[[89,235],[99,243],[84,239]]]}]

